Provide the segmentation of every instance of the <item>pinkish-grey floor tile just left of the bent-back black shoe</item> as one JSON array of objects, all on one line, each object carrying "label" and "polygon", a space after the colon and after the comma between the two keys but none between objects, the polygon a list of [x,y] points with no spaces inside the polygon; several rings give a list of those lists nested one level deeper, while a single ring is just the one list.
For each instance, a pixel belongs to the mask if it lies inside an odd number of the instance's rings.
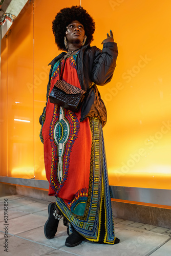
[{"label": "pinkish-grey floor tile just left of the bent-back black shoe", "polygon": [[9,233],[19,234],[37,227],[44,226],[47,218],[33,214],[24,215],[9,220]]}]

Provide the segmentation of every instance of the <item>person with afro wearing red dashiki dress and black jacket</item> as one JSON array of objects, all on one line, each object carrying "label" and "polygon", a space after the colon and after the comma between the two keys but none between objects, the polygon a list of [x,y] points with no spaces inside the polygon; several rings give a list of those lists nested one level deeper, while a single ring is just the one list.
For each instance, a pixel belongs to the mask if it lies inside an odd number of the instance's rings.
[{"label": "person with afro wearing red dashiki dress and black jacket", "polygon": [[[56,203],[48,206],[45,236],[54,238],[63,216],[63,223],[68,226],[68,247],[85,238],[98,243],[119,243],[114,235],[102,133],[106,109],[96,86],[112,79],[117,45],[110,31],[102,42],[102,51],[90,47],[95,23],[80,6],[60,10],[52,29],[58,48],[65,52],[50,63],[47,105],[40,116],[49,195],[56,197]],[[49,101],[49,94],[61,76],[87,92],[78,112]]]}]

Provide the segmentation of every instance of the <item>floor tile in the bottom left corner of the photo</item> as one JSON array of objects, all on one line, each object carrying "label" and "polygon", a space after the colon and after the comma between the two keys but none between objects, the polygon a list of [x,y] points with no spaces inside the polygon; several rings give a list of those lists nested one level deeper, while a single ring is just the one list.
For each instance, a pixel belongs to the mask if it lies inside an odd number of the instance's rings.
[{"label": "floor tile in the bottom left corner of the photo", "polygon": [[8,239],[8,252],[3,250],[3,240],[0,240],[0,246],[2,250],[1,256],[39,256],[47,255],[47,253],[53,251],[53,249],[50,247],[36,244],[17,237],[10,237]]}]

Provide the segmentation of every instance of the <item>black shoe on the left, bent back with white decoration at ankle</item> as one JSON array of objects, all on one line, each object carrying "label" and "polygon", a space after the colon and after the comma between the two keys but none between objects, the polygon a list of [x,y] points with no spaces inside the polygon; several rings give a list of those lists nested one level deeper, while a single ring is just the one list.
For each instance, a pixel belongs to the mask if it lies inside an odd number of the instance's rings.
[{"label": "black shoe on the left, bent back with white decoration at ankle", "polygon": [[49,217],[44,226],[44,233],[47,239],[52,239],[55,237],[59,220],[62,218],[62,215],[57,214],[55,205],[56,203],[50,203],[48,205]]}]

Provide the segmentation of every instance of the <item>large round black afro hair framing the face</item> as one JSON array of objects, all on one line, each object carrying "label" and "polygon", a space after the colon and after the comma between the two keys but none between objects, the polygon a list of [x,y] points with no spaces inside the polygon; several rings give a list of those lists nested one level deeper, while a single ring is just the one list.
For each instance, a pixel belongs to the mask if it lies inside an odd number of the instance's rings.
[{"label": "large round black afro hair framing the face", "polygon": [[86,44],[93,41],[95,31],[94,19],[81,6],[72,6],[71,8],[63,8],[55,16],[52,22],[52,31],[55,36],[55,42],[59,50],[67,51],[64,44],[64,36],[66,35],[66,27],[74,20],[78,20],[85,30],[87,36]]}]

